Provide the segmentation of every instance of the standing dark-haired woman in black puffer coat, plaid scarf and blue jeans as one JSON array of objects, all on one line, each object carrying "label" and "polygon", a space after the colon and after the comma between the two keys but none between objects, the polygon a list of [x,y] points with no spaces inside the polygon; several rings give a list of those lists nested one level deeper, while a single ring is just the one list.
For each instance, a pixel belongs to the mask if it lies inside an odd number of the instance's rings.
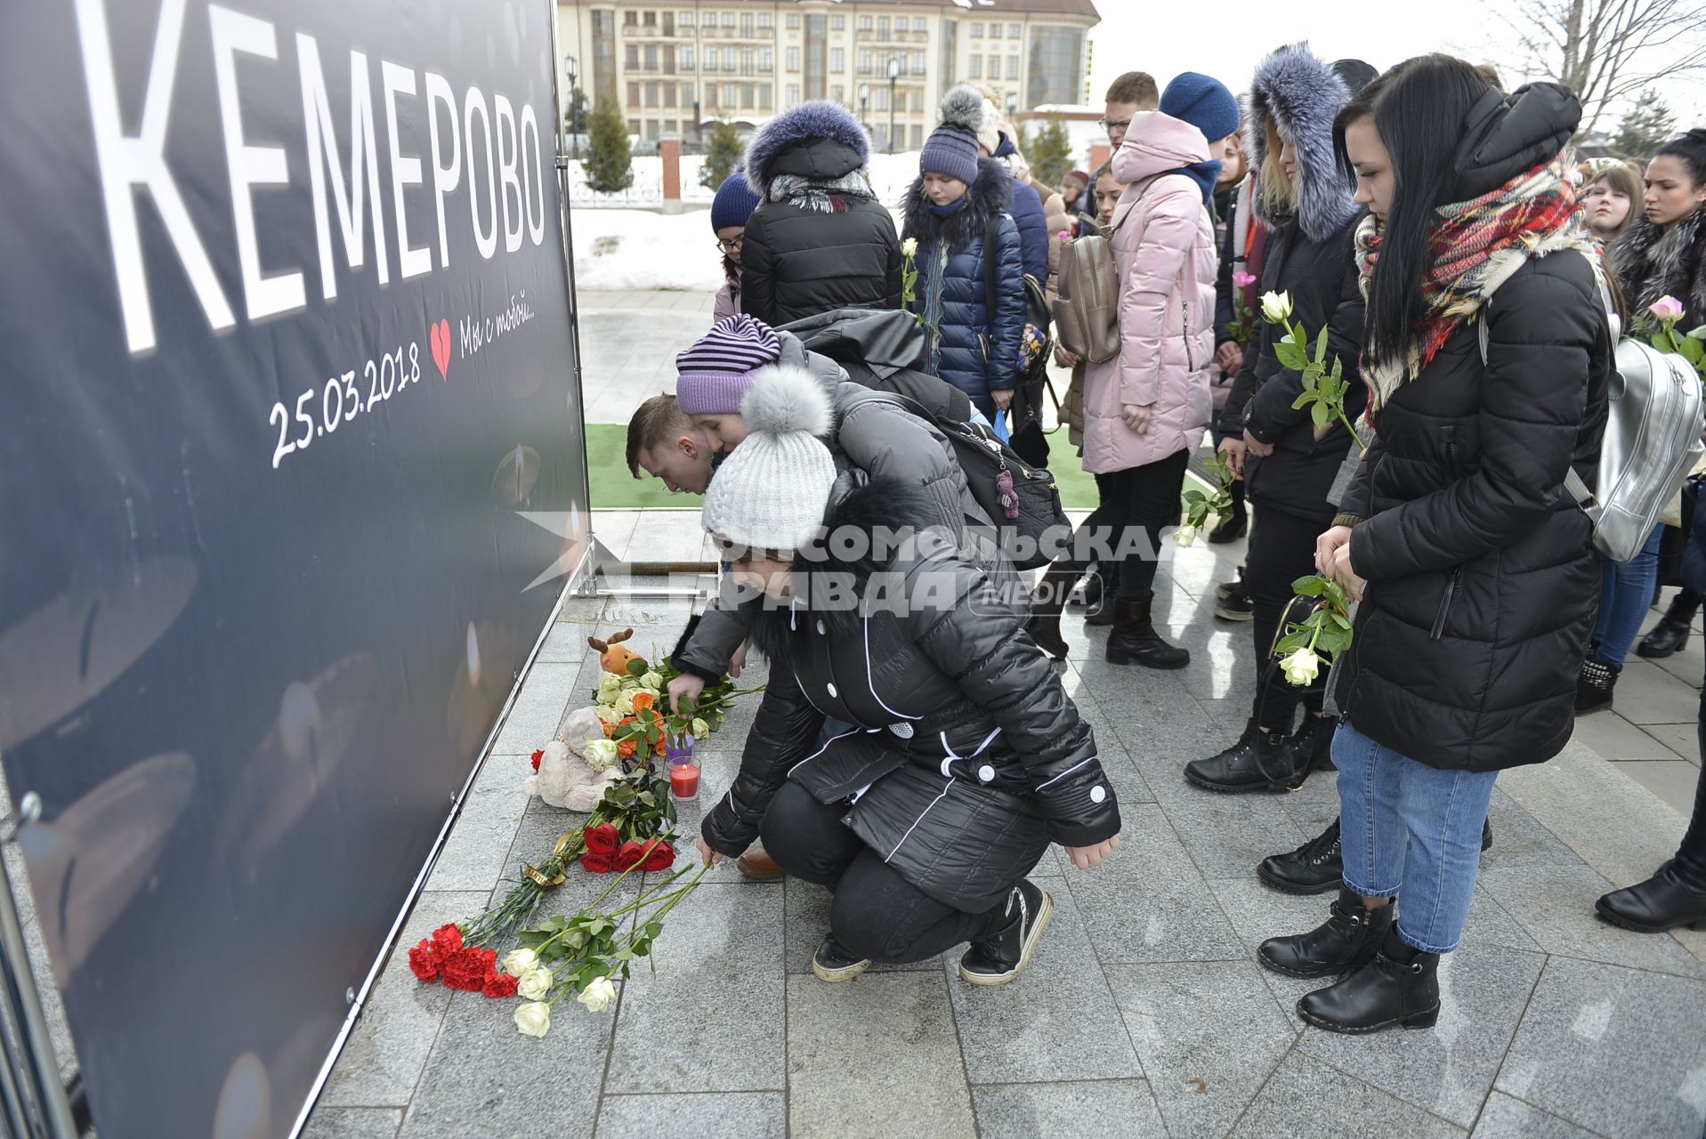
[{"label": "standing dark-haired woman in black puffer coat, plaid scarf and blue jeans", "polygon": [[1599,566],[1563,484],[1593,484],[1612,367],[1561,162],[1580,118],[1561,85],[1506,97],[1450,56],[1399,65],[1339,118],[1370,206],[1378,428],[1317,544],[1361,597],[1334,668],[1344,883],[1324,926],[1257,951],[1293,977],[1349,974],[1298,1001],[1332,1032],[1435,1023],[1493,781],[1570,740]]}]

